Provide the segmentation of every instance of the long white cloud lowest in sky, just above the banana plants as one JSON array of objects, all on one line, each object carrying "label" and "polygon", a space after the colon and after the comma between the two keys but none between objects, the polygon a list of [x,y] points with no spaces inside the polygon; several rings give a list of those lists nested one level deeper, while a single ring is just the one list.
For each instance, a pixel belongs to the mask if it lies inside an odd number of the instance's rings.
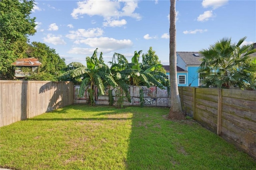
[{"label": "long white cloud lowest in sky, just above the banana plants", "polygon": [[93,48],[99,48],[101,51],[109,52],[117,49],[123,49],[132,46],[131,40],[116,40],[114,38],[100,37],[100,38],[87,38],[84,40],[76,40],[74,43],[84,43]]}]

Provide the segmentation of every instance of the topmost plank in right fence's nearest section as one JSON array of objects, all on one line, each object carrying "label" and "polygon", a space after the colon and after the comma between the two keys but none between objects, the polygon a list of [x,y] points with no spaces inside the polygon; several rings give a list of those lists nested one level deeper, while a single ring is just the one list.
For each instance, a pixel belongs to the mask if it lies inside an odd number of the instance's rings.
[{"label": "topmost plank in right fence's nearest section", "polygon": [[223,89],[222,96],[256,101],[256,91]]}]

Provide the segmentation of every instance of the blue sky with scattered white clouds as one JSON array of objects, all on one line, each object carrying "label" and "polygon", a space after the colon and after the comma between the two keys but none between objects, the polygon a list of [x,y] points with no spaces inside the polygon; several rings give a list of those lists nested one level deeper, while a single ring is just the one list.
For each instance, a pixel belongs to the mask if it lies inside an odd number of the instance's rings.
[{"label": "blue sky with scattered white clouds", "polygon": [[[30,16],[36,17],[37,32],[30,42],[46,43],[67,64],[86,65],[97,47],[107,63],[115,52],[130,61],[134,51],[147,53],[151,46],[169,65],[169,0],[35,2]],[[199,51],[224,37],[256,42],[255,0],[179,0],[176,13],[176,51]]]}]

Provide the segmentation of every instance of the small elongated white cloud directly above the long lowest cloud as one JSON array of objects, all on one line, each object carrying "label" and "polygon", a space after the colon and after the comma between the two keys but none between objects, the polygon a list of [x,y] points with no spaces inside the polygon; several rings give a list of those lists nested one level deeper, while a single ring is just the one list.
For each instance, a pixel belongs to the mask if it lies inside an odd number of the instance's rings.
[{"label": "small elongated white cloud directly above the long lowest cloud", "polygon": [[103,30],[101,28],[90,28],[88,30],[78,29],[77,31],[70,31],[70,34],[66,35],[71,40],[92,38],[102,36]]}]

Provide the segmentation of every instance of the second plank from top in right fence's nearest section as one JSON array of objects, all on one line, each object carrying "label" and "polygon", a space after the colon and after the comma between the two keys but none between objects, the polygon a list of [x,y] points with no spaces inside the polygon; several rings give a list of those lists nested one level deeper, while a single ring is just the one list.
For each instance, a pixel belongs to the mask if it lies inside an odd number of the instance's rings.
[{"label": "second plank from top in right fence's nearest section", "polygon": [[242,109],[248,109],[251,111],[256,110],[256,103],[255,101],[248,101],[244,99],[236,99],[231,97],[222,97],[222,102],[225,105],[235,106]]}]

